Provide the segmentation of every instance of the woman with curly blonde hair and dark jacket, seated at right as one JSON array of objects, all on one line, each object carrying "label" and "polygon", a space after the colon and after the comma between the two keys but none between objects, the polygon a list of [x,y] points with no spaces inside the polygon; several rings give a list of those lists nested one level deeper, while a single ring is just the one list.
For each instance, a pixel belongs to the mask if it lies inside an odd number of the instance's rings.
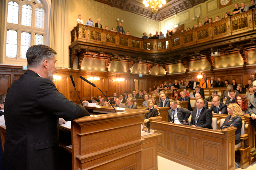
[{"label": "woman with curly blonde hair and dark jacket, seated at right", "polygon": [[235,131],[235,145],[237,145],[240,142],[241,128],[243,124],[241,116],[243,114],[239,105],[236,103],[230,103],[228,105],[228,114],[229,116],[226,117],[220,129],[225,129],[231,126],[236,127],[237,129]]}]

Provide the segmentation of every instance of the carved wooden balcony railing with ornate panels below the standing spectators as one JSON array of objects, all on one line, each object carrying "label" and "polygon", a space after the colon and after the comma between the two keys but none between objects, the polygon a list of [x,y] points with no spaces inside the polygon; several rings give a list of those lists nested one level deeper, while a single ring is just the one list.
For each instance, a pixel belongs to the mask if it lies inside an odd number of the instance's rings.
[{"label": "carved wooden balcony railing with ornate panels below the standing spectators", "polygon": [[71,44],[74,41],[103,44],[141,52],[165,52],[181,47],[221,39],[230,35],[245,33],[256,28],[256,10],[229,16],[222,20],[175,34],[164,39],[142,39],[105,29],[77,24],[71,31]]}]

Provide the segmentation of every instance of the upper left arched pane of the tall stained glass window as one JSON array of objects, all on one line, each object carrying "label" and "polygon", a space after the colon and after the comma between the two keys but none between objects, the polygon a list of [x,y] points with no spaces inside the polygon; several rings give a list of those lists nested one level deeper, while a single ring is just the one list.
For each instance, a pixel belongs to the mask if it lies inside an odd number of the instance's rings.
[{"label": "upper left arched pane of the tall stained glass window", "polygon": [[19,16],[19,5],[16,2],[10,1],[8,3],[7,22],[18,24],[18,16]]}]

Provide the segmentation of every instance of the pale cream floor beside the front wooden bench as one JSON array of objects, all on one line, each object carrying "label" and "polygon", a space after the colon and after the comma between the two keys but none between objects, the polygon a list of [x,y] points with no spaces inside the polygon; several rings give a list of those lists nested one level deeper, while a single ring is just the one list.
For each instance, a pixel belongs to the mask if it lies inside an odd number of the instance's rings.
[{"label": "pale cream floor beside the front wooden bench", "polygon": [[[185,165],[181,165],[179,163],[162,158],[161,156],[157,156],[157,159],[158,159],[158,170],[194,170],[192,168],[186,167]],[[242,170],[242,168],[238,168],[237,162],[236,162],[236,169]],[[246,170],[255,170],[256,162],[254,162],[252,165],[248,166],[245,169]]]}]

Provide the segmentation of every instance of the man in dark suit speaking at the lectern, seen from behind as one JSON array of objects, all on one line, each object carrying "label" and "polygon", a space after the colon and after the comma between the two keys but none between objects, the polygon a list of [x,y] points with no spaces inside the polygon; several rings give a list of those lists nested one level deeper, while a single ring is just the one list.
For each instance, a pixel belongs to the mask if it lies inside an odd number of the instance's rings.
[{"label": "man in dark suit speaking at the lectern, seen from behind", "polygon": [[70,121],[89,116],[52,82],[56,54],[45,45],[28,48],[28,70],[13,82],[6,95],[5,170],[58,169],[59,118]]}]

